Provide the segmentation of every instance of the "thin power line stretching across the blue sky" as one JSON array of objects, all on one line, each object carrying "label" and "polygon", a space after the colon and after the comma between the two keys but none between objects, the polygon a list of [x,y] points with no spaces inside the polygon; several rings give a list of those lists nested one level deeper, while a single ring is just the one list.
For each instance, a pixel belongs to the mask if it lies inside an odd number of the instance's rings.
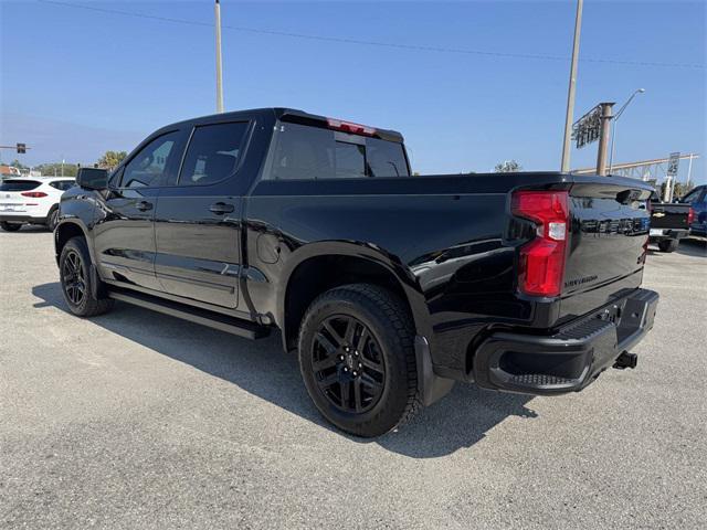
[{"label": "thin power line stretching across the blue sky", "polygon": [[[38,0],[38,1],[40,3],[50,3],[53,6],[84,9],[88,11],[97,11],[101,13],[120,14],[124,17],[133,17],[137,19],[159,20],[161,22],[172,22],[177,24],[188,24],[188,25],[200,25],[205,28],[213,26],[213,24],[210,22],[175,19],[171,17],[160,17],[156,14],[135,13],[135,12],[122,11],[117,9],[97,8],[95,6],[82,6],[77,3],[60,2],[56,0]],[[398,50],[410,50],[410,51],[419,51],[419,52],[455,53],[455,54],[466,54],[466,55],[482,55],[482,56],[488,56],[488,57],[526,59],[526,60],[537,60],[537,61],[559,61],[559,62],[570,61],[570,57],[564,57],[560,55],[492,52],[492,51],[485,51],[485,50],[467,50],[467,49],[461,49],[461,47],[443,47],[443,46],[430,46],[430,45],[422,45],[422,44],[403,44],[398,42],[366,41],[361,39],[349,39],[344,36],[313,35],[313,34],[306,34],[306,33],[296,33],[292,31],[265,30],[265,29],[246,28],[246,26],[240,26],[240,25],[224,24],[223,29],[232,30],[232,31],[241,31],[244,33],[289,36],[294,39],[306,39],[310,41],[338,42],[341,44],[356,44],[356,45],[366,45],[366,46],[398,49]],[[662,63],[662,62],[652,62],[652,61],[622,61],[622,60],[614,60],[614,59],[592,59],[592,57],[584,57],[584,59],[580,59],[579,61],[583,63],[619,64],[619,65],[632,65],[632,66],[655,66],[655,67],[700,68],[700,70],[705,68],[704,64],[692,64],[692,63]]]}]

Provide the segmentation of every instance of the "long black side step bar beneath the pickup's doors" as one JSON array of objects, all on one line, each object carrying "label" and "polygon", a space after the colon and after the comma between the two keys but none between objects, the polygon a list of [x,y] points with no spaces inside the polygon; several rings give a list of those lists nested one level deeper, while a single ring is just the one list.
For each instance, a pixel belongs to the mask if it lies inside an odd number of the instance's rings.
[{"label": "long black side step bar beneath the pickup's doors", "polygon": [[226,333],[238,335],[239,337],[245,337],[246,339],[261,339],[270,335],[270,328],[265,326],[209,311],[207,309],[184,306],[176,301],[165,300],[149,295],[109,290],[108,296],[116,300],[140,306],[152,311],[169,315],[170,317],[189,320],[190,322],[201,324],[202,326],[225,331]]}]

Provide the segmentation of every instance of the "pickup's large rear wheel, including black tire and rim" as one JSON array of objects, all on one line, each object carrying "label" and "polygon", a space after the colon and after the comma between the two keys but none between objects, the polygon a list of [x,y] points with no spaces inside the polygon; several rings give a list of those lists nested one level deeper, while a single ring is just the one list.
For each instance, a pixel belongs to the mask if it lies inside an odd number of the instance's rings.
[{"label": "pickup's large rear wheel, including black tire and rim", "polygon": [[315,299],[299,329],[299,369],[309,396],[337,427],[380,436],[420,407],[414,329],[403,303],[368,284]]}]

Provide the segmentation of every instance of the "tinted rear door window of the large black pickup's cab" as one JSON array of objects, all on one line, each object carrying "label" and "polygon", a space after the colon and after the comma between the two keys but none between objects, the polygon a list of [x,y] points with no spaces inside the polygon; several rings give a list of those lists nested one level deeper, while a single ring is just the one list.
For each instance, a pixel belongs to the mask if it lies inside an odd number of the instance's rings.
[{"label": "tinted rear door window of the large black pickup's cab", "polygon": [[247,121],[194,128],[179,176],[179,186],[203,186],[231,176],[238,167]]}]

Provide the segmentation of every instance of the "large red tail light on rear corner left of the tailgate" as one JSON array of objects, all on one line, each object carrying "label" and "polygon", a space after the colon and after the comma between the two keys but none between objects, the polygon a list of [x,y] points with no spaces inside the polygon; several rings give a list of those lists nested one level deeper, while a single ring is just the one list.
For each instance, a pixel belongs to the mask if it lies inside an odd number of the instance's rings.
[{"label": "large red tail light on rear corner left of the tailgate", "polygon": [[518,286],[531,296],[558,296],[564,279],[569,222],[567,191],[517,191],[514,215],[536,224],[536,237],[520,247]]}]

